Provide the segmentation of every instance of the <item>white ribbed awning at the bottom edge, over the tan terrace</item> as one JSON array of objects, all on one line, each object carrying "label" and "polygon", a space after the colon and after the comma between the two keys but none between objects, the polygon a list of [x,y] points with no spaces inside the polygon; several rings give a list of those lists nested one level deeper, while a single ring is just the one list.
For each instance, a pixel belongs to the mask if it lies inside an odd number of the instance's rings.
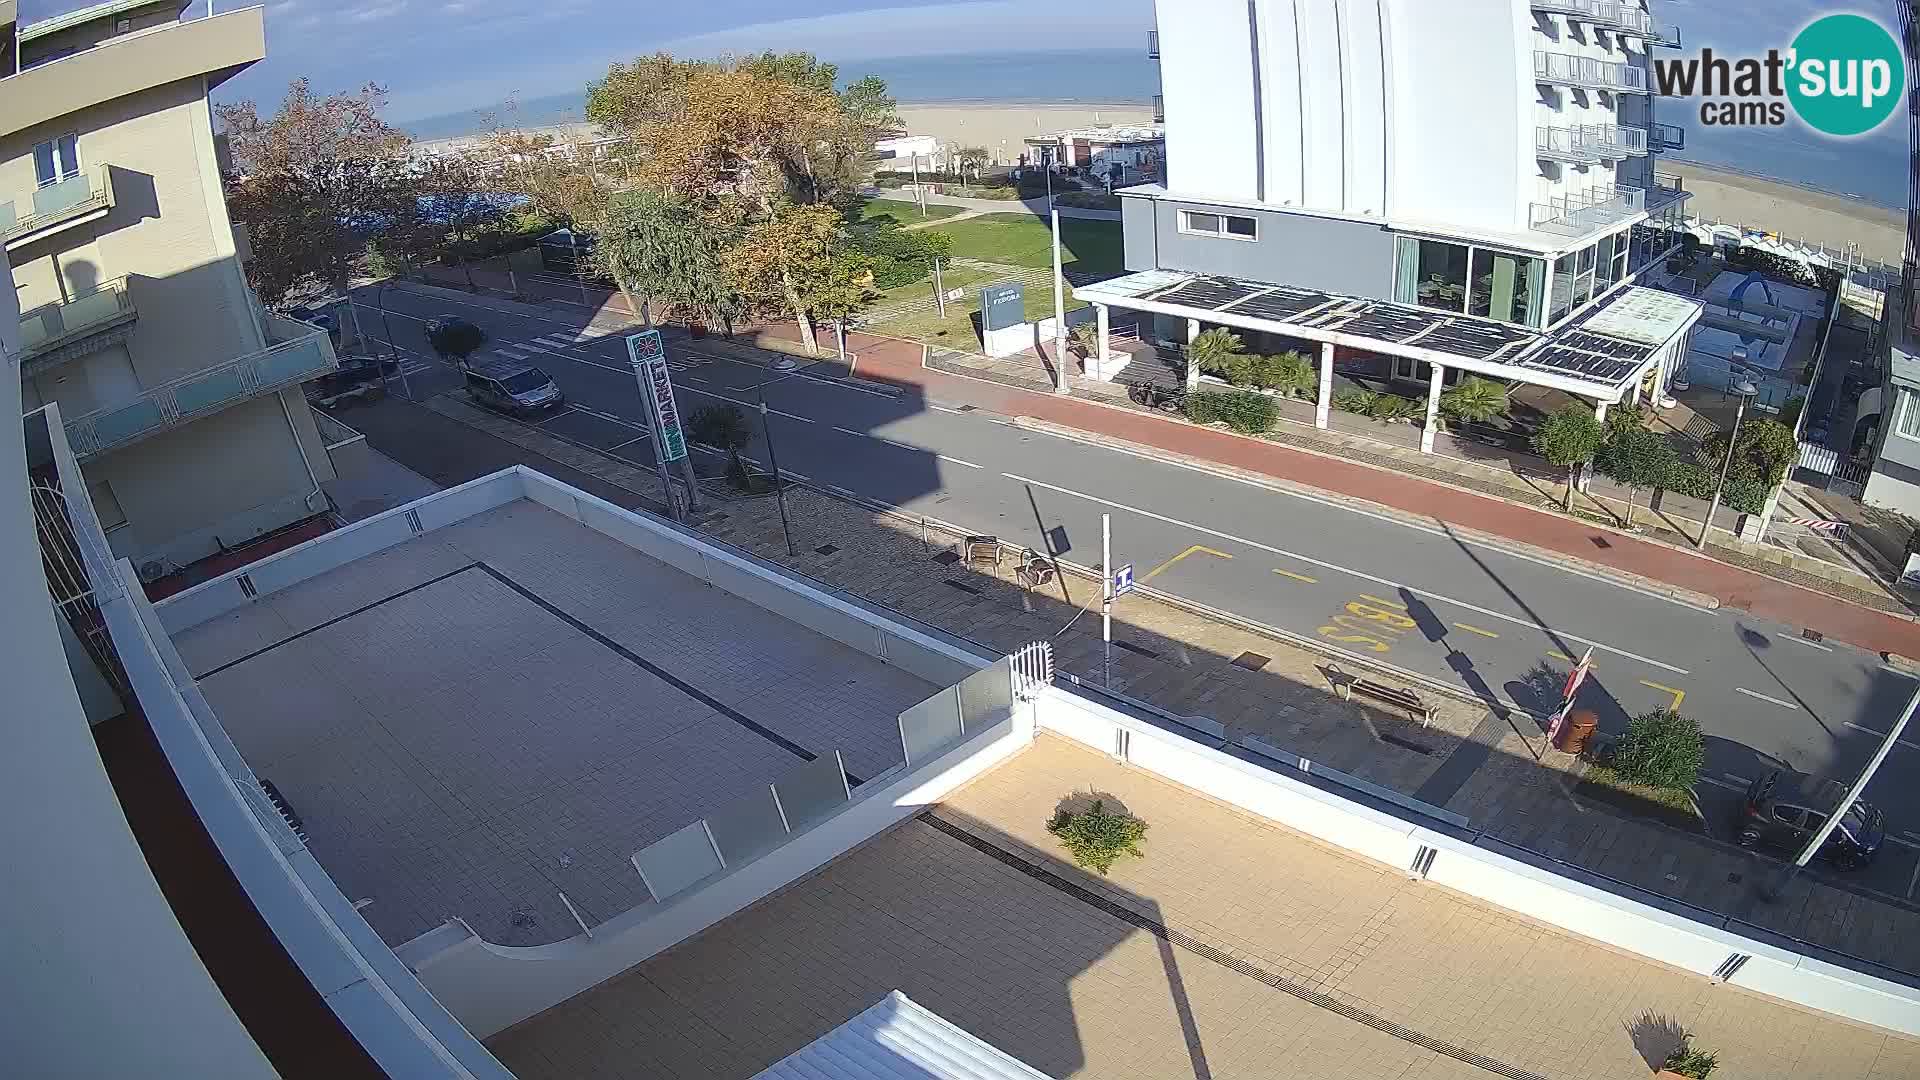
[{"label": "white ribbed awning at the bottom edge, over the tan terrace", "polygon": [[755,1080],[1048,1080],[895,990]]}]

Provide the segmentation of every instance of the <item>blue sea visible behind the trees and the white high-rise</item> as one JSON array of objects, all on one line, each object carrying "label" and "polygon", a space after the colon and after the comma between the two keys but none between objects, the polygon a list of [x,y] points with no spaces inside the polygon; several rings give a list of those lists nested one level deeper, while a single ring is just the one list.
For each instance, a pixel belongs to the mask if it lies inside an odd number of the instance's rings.
[{"label": "blue sea visible behind the trees and the white high-rise", "polygon": [[[828,58],[831,60],[831,58]],[[1146,104],[1160,92],[1160,63],[1144,50],[1064,50],[1014,54],[900,56],[839,61],[841,79],[879,75],[900,104]],[[403,123],[415,138],[453,138],[482,131],[501,106]],[[515,127],[580,121],[586,92],[516,102]],[[1907,209],[1907,131],[1901,119],[1874,135],[1826,138],[1789,121],[1780,129],[1728,129],[1699,123],[1682,102],[1659,102],[1661,123],[1686,129],[1686,150],[1663,160],[1693,161],[1826,194]]]}]

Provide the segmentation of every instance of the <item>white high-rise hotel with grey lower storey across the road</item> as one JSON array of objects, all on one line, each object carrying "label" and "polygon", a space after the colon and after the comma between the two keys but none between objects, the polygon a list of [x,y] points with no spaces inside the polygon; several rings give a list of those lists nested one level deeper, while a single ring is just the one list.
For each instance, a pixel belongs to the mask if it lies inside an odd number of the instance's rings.
[{"label": "white high-rise hotel with grey lower storey across the road", "polygon": [[[1386,356],[1434,398],[1459,371],[1597,405],[1665,390],[1699,309],[1632,288],[1686,198],[1653,169],[1680,129],[1653,121],[1649,52],[1676,35],[1645,0],[1183,0],[1158,21],[1167,183],[1119,192],[1135,273],[1077,296],[1152,313],[1160,340],[1227,325]],[[1613,336],[1563,340],[1603,307]]]}]

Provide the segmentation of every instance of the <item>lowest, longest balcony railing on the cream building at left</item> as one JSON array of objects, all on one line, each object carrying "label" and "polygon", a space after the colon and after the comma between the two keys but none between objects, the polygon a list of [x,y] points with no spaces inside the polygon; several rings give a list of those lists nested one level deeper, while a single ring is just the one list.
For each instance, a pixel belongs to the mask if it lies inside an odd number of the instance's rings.
[{"label": "lowest, longest balcony railing on the cream building at left", "polygon": [[240,402],[326,375],[338,365],[332,340],[324,332],[311,332],[154,386],[131,402],[75,417],[65,425],[67,444],[81,459],[98,457]]}]

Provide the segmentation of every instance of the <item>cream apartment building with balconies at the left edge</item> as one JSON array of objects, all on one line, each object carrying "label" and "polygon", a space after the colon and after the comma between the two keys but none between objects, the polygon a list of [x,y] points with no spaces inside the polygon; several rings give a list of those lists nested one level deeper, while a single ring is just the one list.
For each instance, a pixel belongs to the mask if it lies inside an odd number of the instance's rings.
[{"label": "cream apartment building with balconies at the left edge", "polygon": [[0,236],[25,409],[58,402],[108,540],[142,577],[328,509],[300,384],[332,342],[248,288],[207,94],[267,56],[263,8],[180,21],[0,0]]}]

